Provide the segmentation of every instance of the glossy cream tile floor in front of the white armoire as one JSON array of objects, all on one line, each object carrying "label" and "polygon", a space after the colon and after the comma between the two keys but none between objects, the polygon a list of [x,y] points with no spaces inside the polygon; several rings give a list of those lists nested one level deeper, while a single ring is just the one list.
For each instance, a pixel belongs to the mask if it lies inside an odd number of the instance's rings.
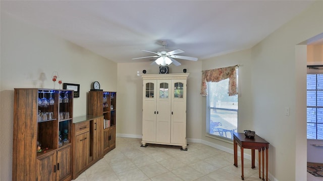
[{"label": "glossy cream tile floor in front of the white armoire", "polygon": [[[241,180],[241,162],[235,167],[233,154],[204,144],[189,143],[188,151],[181,151],[177,146],[140,147],[141,139],[134,138],[117,137],[116,143],[75,180]],[[244,176],[244,180],[261,180],[258,167],[251,169],[247,159]]]}]

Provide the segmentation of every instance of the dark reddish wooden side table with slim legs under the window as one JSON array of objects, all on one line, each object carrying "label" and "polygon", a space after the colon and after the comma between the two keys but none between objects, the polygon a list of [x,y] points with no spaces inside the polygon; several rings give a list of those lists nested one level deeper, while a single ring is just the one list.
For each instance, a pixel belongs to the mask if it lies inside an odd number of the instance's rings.
[{"label": "dark reddish wooden side table with slim legs under the window", "polygon": [[237,145],[240,146],[241,149],[241,170],[242,175],[241,178],[244,180],[243,175],[243,149],[251,149],[251,168],[255,168],[254,165],[254,151],[258,150],[258,160],[259,160],[259,178],[260,176],[260,153],[262,151],[262,180],[264,180],[264,151],[266,151],[266,180],[268,180],[268,147],[269,143],[260,138],[258,135],[255,135],[254,138],[246,138],[243,133],[233,133],[233,147],[234,147],[234,165],[238,167],[238,154],[237,154]]}]

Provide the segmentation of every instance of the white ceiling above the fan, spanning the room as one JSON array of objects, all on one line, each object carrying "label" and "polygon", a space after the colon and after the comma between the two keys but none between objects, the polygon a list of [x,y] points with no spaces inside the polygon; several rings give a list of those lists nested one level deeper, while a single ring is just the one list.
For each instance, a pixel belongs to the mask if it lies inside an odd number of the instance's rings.
[{"label": "white ceiling above the fan, spanning the room", "polygon": [[[2,13],[117,63],[149,62],[160,41],[199,61],[247,49],[312,1],[1,1]],[[181,60],[179,60],[181,62]]]}]

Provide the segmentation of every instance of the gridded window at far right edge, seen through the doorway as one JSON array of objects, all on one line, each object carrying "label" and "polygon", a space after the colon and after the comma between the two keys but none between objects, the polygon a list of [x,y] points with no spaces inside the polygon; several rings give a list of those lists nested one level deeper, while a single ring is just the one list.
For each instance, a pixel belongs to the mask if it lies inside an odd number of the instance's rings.
[{"label": "gridded window at far right edge, seen through the doorway", "polygon": [[323,74],[307,74],[307,139],[323,139]]}]

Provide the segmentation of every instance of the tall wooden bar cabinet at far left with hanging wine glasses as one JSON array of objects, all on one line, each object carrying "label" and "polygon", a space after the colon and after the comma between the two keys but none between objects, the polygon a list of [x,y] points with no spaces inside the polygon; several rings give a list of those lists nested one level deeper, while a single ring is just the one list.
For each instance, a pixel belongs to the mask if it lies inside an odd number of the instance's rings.
[{"label": "tall wooden bar cabinet at far left with hanging wine glasses", "polygon": [[71,180],[73,91],[16,88],[13,180]]}]

